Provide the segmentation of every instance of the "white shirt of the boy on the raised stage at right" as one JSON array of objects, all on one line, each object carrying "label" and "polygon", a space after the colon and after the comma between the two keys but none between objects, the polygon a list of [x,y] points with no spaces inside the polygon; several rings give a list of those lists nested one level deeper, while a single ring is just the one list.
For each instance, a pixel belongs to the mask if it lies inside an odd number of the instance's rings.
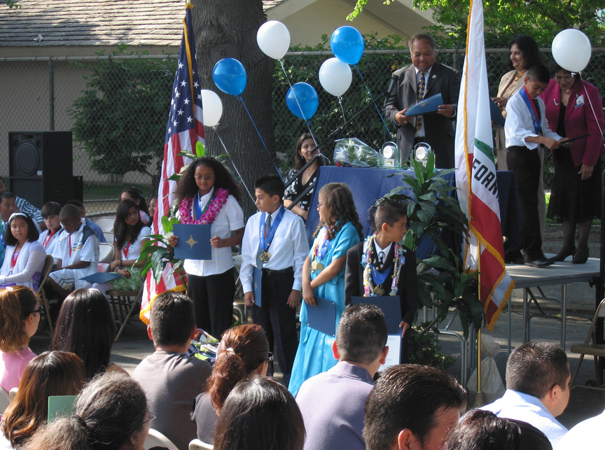
[{"label": "white shirt of the boy on the raised stage at right", "polygon": [[[523,88],[521,88],[523,90]],[[552,137],[555,141],[561,139],[557,133],[550,131],[548,121],[544,113],[544,101],[538,97],[538,106],[540,106],[540,126],[542,127],[542,135]],[[530,150],[538,148],[538,143],[526,142],[526,137],[537,137],[534,130],[534,121],[531,120],[531,113],[523,97],[521,91],[517,92],[508,99],[506,103],[506,122],[504,122],[504,134],[506,134],[506,147],[521,146],[527,147]]]}]

